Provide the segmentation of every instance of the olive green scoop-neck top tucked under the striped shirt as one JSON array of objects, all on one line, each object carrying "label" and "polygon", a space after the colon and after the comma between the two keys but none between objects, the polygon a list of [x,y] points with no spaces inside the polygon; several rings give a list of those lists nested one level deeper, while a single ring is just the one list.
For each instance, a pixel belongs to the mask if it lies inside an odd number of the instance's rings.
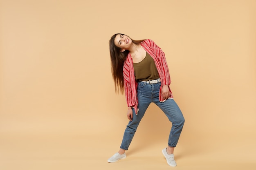
[{"label": "olive green scoop-neck top tucked under the striped shirt", "polygon": [[133,63],[133,68],[137,82],[158,79],[160,77],[155,61],[148,53],[141,62]]}]

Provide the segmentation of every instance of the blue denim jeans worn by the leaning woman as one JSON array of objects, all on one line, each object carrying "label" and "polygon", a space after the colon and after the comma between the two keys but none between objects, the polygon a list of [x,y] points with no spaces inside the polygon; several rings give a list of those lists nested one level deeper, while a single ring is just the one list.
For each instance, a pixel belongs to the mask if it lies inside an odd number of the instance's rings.
[{"label": "blue denim jeans worn by the leaning woman", "polygon": [[126,126],[120,148],[128,150],[137,127],[139,126],[139,122],[144,116],[149,104],[152,102],[161,108],[161,110],[168,117],[169,121],[172,122],[168,146],[175,147],[177,145],[185,120],[179,106],[173,99],[167,99],[165,102],[159,102],[160,87],[161,82],[157,84],[138,82],[137,97],[139,101],[139,112],[138,115],[135,115],[135,110],[132,108],[133,118],[132,121],[129,121],[128,125]]}]

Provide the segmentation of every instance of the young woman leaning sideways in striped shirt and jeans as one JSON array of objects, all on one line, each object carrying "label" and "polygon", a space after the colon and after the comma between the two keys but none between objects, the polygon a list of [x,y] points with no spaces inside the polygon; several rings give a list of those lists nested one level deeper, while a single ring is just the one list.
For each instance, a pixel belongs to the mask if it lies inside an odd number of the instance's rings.
[{"label": "young woman leaning sideways in striped shirt and jeans", "polygon": [[112,76],[116,92],[125,92],[128,104],[126,126],[120,150],[108,159],[126,158],[132,138],[150,103],[155,103],[172,122],[168,146],[162,150],[169,166],[177,166],[173,151],[184,125],[184,117],[173,100],[171,79],[164,52],[152,40],[132,40],[115,34],[109,41]]}]

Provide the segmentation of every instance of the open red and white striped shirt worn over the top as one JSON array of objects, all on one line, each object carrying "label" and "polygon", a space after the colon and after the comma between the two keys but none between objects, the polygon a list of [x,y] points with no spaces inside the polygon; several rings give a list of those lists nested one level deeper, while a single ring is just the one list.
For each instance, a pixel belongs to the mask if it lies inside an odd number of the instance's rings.
[{"label": "open red and white striped shirt worn over the top", "polygon": [[[169,91],[171,93],[171,98],[173,98],[171,89],[169,85],[171,84],[169,69],[167,66],[166,58],[162,49],[160,49],[153,40],[145,40],[141,42],[141,46],[146,50],[146,52],[154,59],[155,65],[157,67],[158,74],[161,79],[161,88],[159,91],[159,101],[164,102],[162,96],[162,86],[168,84]],[[124,89],[126,102],[129,107],[133,106],[136,110],[136,115],[138,114],[138,98],[137,98],[137,82],[135,81],[133,62],[130,53],[127,56],[126,61],[124,62]]]}]

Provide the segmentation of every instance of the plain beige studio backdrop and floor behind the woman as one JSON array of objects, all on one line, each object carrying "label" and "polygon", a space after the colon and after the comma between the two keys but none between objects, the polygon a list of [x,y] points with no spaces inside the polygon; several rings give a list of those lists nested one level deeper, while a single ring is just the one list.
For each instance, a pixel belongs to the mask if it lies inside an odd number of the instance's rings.
[{"label": "plain beige studio backdrop and floor behind the woman", "polygon": [[108,40],[165,52],[186,119],[178,170],[256,168],[255,0],[1,0],[0,169],[171,169],[171,124],[150,105],[127,152]]}]

